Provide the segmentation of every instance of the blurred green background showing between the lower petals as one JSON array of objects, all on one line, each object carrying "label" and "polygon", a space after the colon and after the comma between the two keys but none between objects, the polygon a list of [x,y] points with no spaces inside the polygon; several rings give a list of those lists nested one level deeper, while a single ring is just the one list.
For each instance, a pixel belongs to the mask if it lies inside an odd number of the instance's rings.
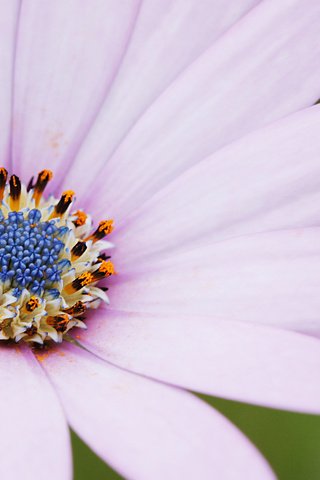
[{"label": "blurred green background showing between the lower petals", "polygon": [[[320,416],[266,409],[207,396],[201,398],[226,415],[257,445],[279,480],[320,479]],[[122,479],[74,433],[72,444],[74,480]]]}]

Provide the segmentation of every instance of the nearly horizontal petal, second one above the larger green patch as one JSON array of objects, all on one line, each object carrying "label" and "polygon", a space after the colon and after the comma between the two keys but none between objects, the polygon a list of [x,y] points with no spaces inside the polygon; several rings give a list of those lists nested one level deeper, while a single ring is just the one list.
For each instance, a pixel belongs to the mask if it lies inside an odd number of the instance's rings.
[{"label": "nearly horizontal petal, second one above the larger green patch", "polygon": [[[209,315],[320,334],[320,229],[231,239],[121,267],[110,288],[114,309]],[[127,275],[126,275],[127,273]]]}]

